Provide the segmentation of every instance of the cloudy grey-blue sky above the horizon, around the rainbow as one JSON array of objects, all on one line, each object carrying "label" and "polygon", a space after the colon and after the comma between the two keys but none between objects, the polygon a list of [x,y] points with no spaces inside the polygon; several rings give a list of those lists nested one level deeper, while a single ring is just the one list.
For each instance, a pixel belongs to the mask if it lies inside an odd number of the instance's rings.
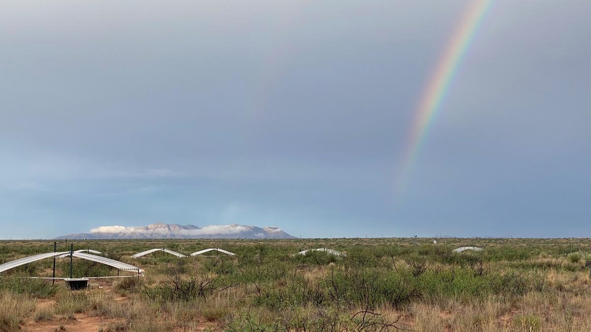
[{"label": "cloudy grey-blue sky above the horizon, around the rainbow", "polygon": [[[2,1],[0,239],[591,237],[591,2]],[[401,182],[405,185],[402,190]]]}]

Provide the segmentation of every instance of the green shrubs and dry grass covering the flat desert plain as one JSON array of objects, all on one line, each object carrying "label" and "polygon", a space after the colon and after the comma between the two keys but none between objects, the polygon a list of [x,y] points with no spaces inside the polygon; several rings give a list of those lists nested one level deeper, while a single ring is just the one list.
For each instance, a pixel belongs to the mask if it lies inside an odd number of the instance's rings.
[{"label": "green shrubs and dry grass covering the flat desert plain", "polygon": [[[452,253],[462,245],[482,252]],[[67,248],[69,243],[59,243]],[[142,278],[93,279],[92,289],[52,285],[53,260],[0,278],[0,331],[100,317],[102,331],[579,331],[591,328],[591,248],[577,239],[95,240],[76,243],[141,266]],[[237,256],[177,259],[224,248]],[[576,250],[573,250],[573,247]],[[310,248],[346,252],[294,253]],[[9,261],[53,242],[0,242]],[[56,262],[69,274],[69,259]],[[74,261],[75,276],[116,276]]]}]

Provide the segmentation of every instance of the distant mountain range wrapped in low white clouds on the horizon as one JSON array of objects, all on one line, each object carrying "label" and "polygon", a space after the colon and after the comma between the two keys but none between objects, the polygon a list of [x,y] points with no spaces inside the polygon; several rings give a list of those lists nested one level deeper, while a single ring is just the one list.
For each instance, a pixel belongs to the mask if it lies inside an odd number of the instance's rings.
[{"label": "distant mountain range wrapped in low white clouds on the horizon", "polygon": [[89,233],[73,233],[56,237],[72,239],[295,239],[278,227],[243,226],[239,224],[195,225],[155,223],[148,226],[100,226]]}]

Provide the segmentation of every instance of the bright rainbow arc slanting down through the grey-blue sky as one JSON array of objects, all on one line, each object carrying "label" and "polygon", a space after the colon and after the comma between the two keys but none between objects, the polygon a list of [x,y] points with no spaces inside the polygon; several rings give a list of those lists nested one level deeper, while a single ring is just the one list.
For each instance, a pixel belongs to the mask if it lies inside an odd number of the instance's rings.
[{"label": "bright rainbow arc slanting down through the grey-blue sky", "polygon": [[400,178],[397,181],[397,192],[399,194],[404,192],[407,187],[411,170],[417,160],[427,132],[441,108],[441,103],[447,90],[449,90],[457,67],[462,62],[462,57],[466,54],[470,41],[472,41],[491,4],[492,0],[472,1],[421,95],[421,100],[414,113],[413,126],[405,145],[406,148],[399,173]]}]

